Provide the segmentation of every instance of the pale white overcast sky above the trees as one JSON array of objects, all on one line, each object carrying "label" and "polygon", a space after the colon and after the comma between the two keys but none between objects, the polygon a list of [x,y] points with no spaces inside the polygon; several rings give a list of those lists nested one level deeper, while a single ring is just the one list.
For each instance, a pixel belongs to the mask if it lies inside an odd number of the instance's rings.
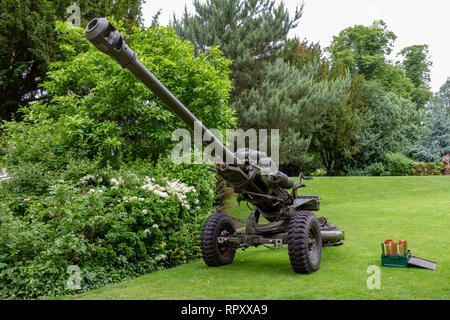
[{"label": "pale white overcast sky above the trees", "polygon": [[[277,0],[281,2],[282,0]],[[159,23],[169,24],[173,14],[180,17],[185,5],[194,12],[192,0],[147,0],[143,5],[144,24],[149,25],[159,9]],[[301,0],[284,0],[291,16]],[[354,25],[370,25],[382,19],[397,36],[391,60],[414,44],[428,44],[431,90],[436,92],[450,77],[450,1],[448,0],[303,0],[303,16],[289,37],[297,36],[327,47],[333,36]]]}]

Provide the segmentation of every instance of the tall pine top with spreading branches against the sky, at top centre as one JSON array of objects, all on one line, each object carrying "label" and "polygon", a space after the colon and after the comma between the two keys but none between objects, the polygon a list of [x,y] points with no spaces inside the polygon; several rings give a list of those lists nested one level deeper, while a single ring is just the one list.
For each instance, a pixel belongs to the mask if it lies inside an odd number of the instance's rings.
[{"label": "tall pine top with spreading branches against the sky, at top centre", "polygon": [[192,41],[198,52],[219,46],[224,56],[233,60],[232,98],[263,81],[264,63],[274,60],[274,53],[297,26],[303,5],[291,18],[284,4],[274,0],[194,0],[195,14],[171,22],[182,37]]}]

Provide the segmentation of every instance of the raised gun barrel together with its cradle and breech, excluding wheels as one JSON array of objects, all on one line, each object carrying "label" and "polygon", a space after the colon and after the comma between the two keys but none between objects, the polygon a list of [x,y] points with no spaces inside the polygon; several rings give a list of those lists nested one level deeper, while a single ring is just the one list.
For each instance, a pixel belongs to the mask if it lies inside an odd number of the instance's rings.
[{"label": "raised gun barrel together with its cradle and breech, excluding wheels", "polygon": [[[273,174],[263,176],[255,164],[242,165],[244,152],[232,153],[217,139],[147,68],[138,60],[136,53],[123,41],[120,32],[105,18],[96,18],[86,27],[87,39],[100,51],[113,57],[123,68],[130,70],[141,80],[164,104],[172,110],[189,128],[195,130],[200,126],[206,141],[212,141],[219,153],[222,163],[217,163],[216,171],[227,181],[229,186],[241,193],[244,199],[253,203],[269,220],[277,219],[283,203],[289,198],[286,189],[294,182],[284,173],[276,170]],[[216,154],[217,156],[217,154]],[[213,169],[214,170],[214,169]]]}]

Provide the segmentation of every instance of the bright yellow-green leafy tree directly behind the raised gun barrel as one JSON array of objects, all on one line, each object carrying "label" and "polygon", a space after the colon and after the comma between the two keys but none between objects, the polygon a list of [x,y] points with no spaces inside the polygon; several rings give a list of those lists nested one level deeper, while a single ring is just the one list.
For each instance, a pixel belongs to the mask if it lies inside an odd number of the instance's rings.
[{"label": "bright yellow-green leafy tree directly behind the raised gun barrel", "polygon": [[[184,124],[128,70],[89,47],[81,29],[58,28],[71,56],[52,64],[43,85],[50,101],[23,108],[24,122],[4,127],[5,144],[12,146],[4,149],[7,158],[51,162],[54,155],[64,157],[71,150],[75,156],[118,165],[122,159],[157,159],[171,150],[172,131]],[[229,61],[218,49],[195,57],[193,46],[168,27],[123,34],[142,63],[206,126],[234,124],[228,108]]]}]

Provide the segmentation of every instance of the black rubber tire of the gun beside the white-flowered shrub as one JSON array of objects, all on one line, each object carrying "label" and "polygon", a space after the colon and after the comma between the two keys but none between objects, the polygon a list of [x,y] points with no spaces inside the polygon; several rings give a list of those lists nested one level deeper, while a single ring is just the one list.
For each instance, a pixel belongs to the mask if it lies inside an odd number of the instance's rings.
[{"label": "black rubber tire of the gun beside the white-flowered shrub", "polygon": [[[224,234],[222,234],[224,233]],[[219,244],[217,238],[221,235],[236,233],[233,220],[224,213],[209,216],[202,228],[200,249],[205,263],[210,267],[218,267],[233,262],[236,248]]]}]

